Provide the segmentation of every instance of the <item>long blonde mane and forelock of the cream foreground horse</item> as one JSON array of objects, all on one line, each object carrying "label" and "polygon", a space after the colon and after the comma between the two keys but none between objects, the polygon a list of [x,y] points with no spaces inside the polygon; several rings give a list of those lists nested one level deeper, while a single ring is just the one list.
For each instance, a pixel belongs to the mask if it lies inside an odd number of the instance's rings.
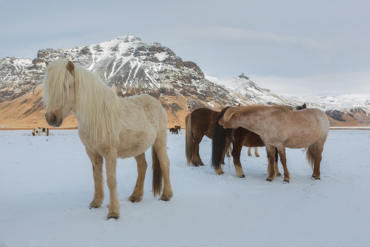
[{"label": "long blonde mane and forelock of the cream foreground horse", "polygon": [[[50,73],[46,73],[44,79],[44,90],[47,91],[44,104],[48,107],[65,102],[68,94],[73,93],[69,92],[73,76],[67,70],[67,63],[67,60],[59,59],[48,64],[47,71]],[[73,113],[78,128],[87,133],[92,146],[118,141],[119,98],[116,92],[96,74],[77,64],[74,64],[74,80],[76,104]]]}]

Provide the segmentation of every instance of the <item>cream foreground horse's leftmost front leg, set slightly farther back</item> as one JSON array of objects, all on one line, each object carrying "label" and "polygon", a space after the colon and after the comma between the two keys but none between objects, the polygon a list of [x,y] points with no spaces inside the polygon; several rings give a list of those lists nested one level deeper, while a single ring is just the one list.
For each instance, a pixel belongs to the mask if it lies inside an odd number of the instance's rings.
[{"label": "cream foreground horse's leftmost front leg, set slightly farther back", "polygon": [[90,203],[90,208],[98,208],[103,203],[103,157],[92,153],[86,148],[86,153],[91,160],[92,176],[94,177],[94,198]]}]

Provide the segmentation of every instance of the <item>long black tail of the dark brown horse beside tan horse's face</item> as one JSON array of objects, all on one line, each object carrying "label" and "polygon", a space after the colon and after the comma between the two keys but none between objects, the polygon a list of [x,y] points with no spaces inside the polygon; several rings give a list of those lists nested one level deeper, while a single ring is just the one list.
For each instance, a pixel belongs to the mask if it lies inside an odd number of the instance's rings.
[{"label": "long black tail of the dark brown horse beside tan horse's face", "polygon": [[215,170],[220,168],[223,157],[231,144],[234,134],[234,129],[223,128],[223,126],[218,123],[221,117],[223,117],[226,109],[228,109],[228,107],[223,109],[221,113],[217,115],[215,126],[213,127],[211,167]]}]

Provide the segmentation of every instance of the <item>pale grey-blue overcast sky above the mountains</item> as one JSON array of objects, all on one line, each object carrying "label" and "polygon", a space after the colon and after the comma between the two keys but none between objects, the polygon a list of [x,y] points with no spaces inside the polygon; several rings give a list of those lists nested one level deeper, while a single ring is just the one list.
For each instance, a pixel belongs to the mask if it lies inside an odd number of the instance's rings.
[{"label": "pale grey-blue overcast sky above the mountains", "polygon": [[280,94],[370,93],[368,0],[14,0],[0,16],[0,59],[133,35]]}]

